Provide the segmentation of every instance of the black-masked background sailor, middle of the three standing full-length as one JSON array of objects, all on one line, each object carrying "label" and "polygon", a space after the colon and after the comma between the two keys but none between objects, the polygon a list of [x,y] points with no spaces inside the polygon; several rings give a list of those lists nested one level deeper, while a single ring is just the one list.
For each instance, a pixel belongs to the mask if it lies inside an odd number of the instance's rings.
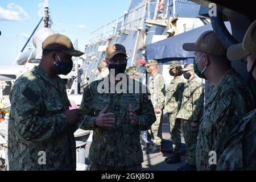
[{"label": "black-masked background sailor, middle of the three standing full-length", "polygon": [[177,111],[179,111],[183,92],[185,88],[185,81],[181,78],[181,65],[179,61],[171,61],[170,75],[174,76],[174,79],[171,81],[166,93],[166,106],[164,110],[168,113],[169,125],[170,125],[170,134],[172,140],[172,147],[174,151],[174,156],[166,158],[168,164],[180,162],[180,152],[181,152],[181,123],[180,120],[176,119]]}]

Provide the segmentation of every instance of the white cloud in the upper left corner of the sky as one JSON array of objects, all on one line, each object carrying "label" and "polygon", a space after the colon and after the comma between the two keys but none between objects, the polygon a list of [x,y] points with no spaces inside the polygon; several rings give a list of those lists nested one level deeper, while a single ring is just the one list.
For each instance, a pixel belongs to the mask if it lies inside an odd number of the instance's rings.
[{"label": "white cloud in the upper left corner of the sky", "polygon": [[7,9],[0,6],[0,20],[24,22],[29,19],[30,16],[28,16],[27,12],[22,7],[15,5],[15,3],[9,3]]}]

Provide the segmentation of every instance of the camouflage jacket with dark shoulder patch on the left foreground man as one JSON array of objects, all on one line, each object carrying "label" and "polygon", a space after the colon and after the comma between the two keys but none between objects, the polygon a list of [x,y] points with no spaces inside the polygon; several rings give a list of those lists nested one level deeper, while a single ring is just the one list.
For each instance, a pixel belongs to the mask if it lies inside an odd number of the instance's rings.
[{"label": "camouflage jacket with dark shoulder patch on the left foreground man", "polygon": [[[57,80],[59,85],[35,67],[15,81],[10,92],[10,170],[76,169],[77,126],[68,126],[65,110],[70,102],[64,81]],[[45,165],[40,156],[46,156]]]}]

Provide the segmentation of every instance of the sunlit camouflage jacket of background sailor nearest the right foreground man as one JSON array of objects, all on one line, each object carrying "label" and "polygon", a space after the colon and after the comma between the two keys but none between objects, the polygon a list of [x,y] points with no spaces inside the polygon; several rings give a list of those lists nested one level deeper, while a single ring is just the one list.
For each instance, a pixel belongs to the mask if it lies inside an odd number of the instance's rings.
[{"label": "sunlit camouflage jacket of background sailor nearest the right foreground man", "polygon": [[204,86],[193,78],[185,84],[183,98],[177,118],[199,122],[204,109]]}]

